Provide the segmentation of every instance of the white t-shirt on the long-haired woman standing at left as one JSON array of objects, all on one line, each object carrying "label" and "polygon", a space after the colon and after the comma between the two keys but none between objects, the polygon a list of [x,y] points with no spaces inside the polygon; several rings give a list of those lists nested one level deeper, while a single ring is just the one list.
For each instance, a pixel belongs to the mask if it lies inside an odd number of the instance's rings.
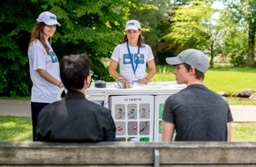
[{"label": "white t-shirt on the long-haired woman standing at left", "polygon": [[60,81],[58,59],[52,47],[49,45],[49,41],[46,40],[46,42],[49,46],[49,54],[47,54],[39,40],[35,40],[28,47],[29,71],[33,82],[31,91],[32,102],[52,103],[56,101],[56,96],[59,91],[56,85],[50,84],[36,71],[37,69],[44,69],[49,72],[51,76]]}]

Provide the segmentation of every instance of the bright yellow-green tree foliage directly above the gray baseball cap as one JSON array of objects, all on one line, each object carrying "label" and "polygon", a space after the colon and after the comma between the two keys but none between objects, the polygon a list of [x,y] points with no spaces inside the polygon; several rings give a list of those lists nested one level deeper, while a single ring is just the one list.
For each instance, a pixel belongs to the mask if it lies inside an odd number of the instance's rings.
[{"label": "bright yellow-green tree foliage directly above the gray baseball cap", "polygon": [[177,53],[185,48],[210,51],[211,61],[219,38],[220,28],[213,23],[215,10],[209,1],[191,1],[177,8],[173,23],[164,39],[172,41],[171,47],[178,46]]}]

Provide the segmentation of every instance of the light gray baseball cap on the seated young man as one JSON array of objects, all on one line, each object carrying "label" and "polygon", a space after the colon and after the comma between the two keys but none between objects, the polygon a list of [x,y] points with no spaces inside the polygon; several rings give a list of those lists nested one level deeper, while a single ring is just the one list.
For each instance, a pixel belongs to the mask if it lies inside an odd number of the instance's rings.
[{"label": "light gray baseball cap on the seated young man", "polygon": [[186,49],[177,54],[177,57],[167,57],[166,62],[170,65],[177,65],[186,63],[205,73],[209,68],[209,61],[207,55],[197,49]]}]

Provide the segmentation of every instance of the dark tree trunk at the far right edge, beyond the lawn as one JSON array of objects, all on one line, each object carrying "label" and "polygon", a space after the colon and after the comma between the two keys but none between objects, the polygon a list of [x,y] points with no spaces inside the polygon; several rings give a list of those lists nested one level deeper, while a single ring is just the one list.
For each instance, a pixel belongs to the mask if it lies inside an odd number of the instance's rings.
[{"label": "dark tree trunk at the far right edge, beyond the lawn", "polygon": [[254,61],[255,31],[256,29],[253,23],[252,22],[249,23],[247,67],[255,67],[255,61]]}]

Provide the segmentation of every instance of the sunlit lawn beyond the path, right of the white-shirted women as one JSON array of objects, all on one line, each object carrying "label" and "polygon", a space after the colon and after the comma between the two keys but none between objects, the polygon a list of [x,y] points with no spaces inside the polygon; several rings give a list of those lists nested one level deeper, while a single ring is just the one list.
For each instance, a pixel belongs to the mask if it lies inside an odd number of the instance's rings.
[{"label": "sunlit lawn beyond the path, right of the white-shirted women", "polygon": [[[157,66],[157,73],[152,79],[157,81],[176,81],[173,66]],[[252,89],[256,91],[256,69],[253,68],[212,68],[208,69],[204,84],[207,88],[229,95],[230,105],[256,105],[256,101],[248,98],[234,98],[237,91]]]}]

